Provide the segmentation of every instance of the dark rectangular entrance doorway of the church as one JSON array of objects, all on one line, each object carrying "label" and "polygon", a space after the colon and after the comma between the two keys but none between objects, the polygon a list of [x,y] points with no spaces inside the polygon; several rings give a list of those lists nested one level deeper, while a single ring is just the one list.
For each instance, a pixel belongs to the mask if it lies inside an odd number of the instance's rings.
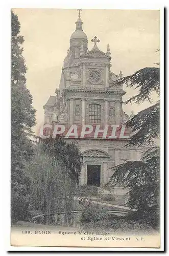
[{"label": "dark rectangular entrance doorway of the church", "polygon": [[87,185],[101,185],[101,165],[87,165]]}]

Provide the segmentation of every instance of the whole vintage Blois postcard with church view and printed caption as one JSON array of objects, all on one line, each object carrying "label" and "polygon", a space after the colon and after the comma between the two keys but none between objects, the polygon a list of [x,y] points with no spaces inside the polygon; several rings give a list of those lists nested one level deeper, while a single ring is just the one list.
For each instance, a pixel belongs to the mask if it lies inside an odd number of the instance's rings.
[{"label": "whole vintage Blois postcard with church view and printed caption", "polygon": [[160,10],[11,9],[11,246],[160,248]]}]

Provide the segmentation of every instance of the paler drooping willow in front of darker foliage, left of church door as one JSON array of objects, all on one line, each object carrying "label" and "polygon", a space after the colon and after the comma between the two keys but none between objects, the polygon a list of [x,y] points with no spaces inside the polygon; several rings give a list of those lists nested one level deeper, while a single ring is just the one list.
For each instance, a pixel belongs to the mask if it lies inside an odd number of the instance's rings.
[{"label": "paler drooping willow in front of darker foliage, left of church door", "polygon": [[[65,168],[37,145],[35,154],[27,164],[27,175],[31,179],[31,215],[50,215],[57,211],[68,211],[73,207],[73,182]],[[46,217],[45,223],[49,221]]]}]

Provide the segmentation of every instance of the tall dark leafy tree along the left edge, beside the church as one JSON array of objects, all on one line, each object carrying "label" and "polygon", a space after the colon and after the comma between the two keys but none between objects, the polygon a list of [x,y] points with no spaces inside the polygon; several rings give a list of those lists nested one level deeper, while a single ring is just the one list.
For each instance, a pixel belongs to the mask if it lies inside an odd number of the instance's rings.
[{"label": "tall dark leafy tree along the left edge, beside the church", "polygon": [[25,219],[29,205],[30,180],[25,176],[26,161],[33,153],[29,135],[35,125],[32,96],[26,86],[27,67],[22,56],[23,36],[18,16],[11,13],[11,219]]}]

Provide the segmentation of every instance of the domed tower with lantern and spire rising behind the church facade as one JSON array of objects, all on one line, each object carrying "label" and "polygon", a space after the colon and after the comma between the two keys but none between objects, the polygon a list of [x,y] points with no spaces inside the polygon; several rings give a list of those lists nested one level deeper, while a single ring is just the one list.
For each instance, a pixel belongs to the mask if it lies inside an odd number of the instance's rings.
[{"label": "domed tower with lantern and spire rising behind the church facade", "polygon": [[83,22],[81,19],[81,9],[78,9],[79,17],[76,24],[76,30],[70,36],[70,48],[64,59],[64,68],[76,66],[79,62],[80,54],[87,52],[87,35],[83,32]]}]

